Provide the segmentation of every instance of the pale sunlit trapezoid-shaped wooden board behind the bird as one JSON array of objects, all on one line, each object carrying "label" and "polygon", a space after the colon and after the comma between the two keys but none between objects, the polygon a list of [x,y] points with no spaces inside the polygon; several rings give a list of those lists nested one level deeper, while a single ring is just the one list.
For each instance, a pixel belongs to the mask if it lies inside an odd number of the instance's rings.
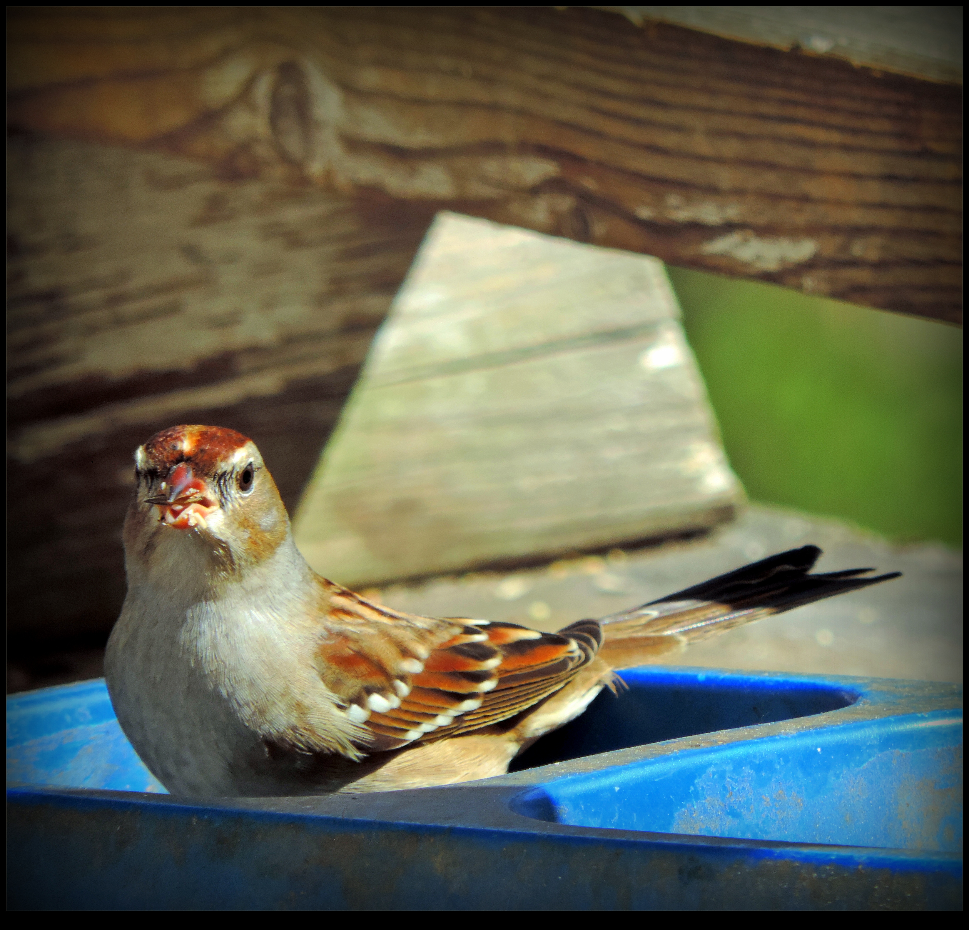
[{"label": "pale sunlit trapezoid-shaped wooden board behind the bird", "polygon": [[442,213],[300,504],[344,584],[709,527],[742,497],[661,262]]}]

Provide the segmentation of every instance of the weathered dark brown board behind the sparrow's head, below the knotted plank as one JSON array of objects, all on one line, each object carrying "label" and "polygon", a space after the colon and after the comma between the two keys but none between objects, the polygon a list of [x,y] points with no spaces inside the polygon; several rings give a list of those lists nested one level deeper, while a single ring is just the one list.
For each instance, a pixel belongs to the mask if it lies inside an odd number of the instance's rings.
[{"label": "weathered dark brown board behind the sparrow's head, below the knotted plank", "polygon": [[107,631],[132,454],[252,436],[296,506],[431,216],[164,152],[8,149],[12,648]]}]

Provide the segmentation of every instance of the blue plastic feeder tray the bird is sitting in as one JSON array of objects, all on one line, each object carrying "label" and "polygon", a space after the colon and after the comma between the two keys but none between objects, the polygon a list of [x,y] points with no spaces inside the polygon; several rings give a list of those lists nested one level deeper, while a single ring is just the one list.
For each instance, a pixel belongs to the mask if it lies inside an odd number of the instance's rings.
[{"label": "blue plastic feeder tray the bird is sitting in", "polygon": [[961,907],[961,689],[623,678],[509,775],[328,797],[172,797],[103,681],[16,694],[8,907]]}]

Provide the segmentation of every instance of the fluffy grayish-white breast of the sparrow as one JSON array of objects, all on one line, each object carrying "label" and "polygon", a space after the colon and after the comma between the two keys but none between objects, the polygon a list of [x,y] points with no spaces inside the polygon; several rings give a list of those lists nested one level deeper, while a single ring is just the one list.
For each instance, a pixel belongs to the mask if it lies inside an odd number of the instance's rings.
[{"label": "fluffy grayish-white breast of the sparrow", "polygon": [[318,631],[288,619],[286,606],[244,589],[187,604],[129,591],[109,640],[109,692],[135,750],[173,793],[291,793],[288,762],[269,748],[326,752],[352,725],[308,660]]}]

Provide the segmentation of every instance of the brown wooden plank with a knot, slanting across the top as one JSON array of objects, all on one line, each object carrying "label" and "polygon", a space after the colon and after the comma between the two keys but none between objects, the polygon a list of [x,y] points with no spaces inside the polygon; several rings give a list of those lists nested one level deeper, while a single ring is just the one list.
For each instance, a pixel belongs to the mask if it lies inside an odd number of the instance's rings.
[{"label": "brown wooden plank with a knot, slanting across the top", "polygon": [[961,320],[961,89],[568,8],[17,8],[9,119]]}]

